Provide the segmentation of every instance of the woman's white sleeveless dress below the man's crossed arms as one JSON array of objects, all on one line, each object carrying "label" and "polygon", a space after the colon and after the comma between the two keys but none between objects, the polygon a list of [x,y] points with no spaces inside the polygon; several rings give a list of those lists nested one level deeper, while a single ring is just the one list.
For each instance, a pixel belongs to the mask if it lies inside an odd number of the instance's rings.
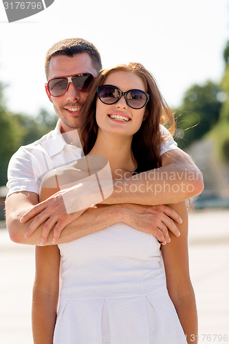
[{"label": "woman's white sleeveless dress below the man's crossed arms", "polygon": [[155,236],[116,224],[59,248],[54,344],[186,343]]}]

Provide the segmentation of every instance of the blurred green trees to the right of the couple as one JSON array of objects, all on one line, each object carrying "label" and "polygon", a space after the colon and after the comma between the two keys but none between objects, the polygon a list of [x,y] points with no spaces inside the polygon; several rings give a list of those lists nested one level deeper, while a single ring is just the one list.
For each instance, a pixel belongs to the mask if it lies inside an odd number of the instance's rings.
[{"label": "blurred green trees to the right of the couple", "polygon": [[188,149],[193,142],[208,138],[214,142],[217,158],[229,163],[229,41],[223,59],[225,69],[219,83],[206,80],[184,92],[182,104],[174,109],[175,139],[180,148]]}]

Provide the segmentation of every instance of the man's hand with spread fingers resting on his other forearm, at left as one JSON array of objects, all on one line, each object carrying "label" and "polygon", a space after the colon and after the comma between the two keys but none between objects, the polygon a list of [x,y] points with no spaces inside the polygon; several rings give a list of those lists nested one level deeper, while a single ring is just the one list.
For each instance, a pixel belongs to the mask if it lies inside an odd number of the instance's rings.
[{"label": "man's hand with spread fingers resting on his other forearm, at left", "polygon": [[58,242],[61,231],[67,224],[72,223],[77,219],[86,209],[76,211],[75,213],[67,214],[65,202],[62,197],[63,191],[58,191],[54,195],[47,198],[47,200],[36,204],[27,213],[25,213],[20,222],[24,224],[35,216],[34,220],[25,232],[25,237],[30,237],[35,230],[45,222],[41,235],[41,245],[45,245],[47,237],[52,228],[54,228],[53,244]]}]

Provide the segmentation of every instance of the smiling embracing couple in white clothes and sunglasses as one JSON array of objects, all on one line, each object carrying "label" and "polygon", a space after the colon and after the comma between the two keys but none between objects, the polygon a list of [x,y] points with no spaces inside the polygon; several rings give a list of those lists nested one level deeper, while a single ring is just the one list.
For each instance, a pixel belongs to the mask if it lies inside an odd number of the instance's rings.
[{"label": "smiling embracing couple in white clothes and sunglasses", "polygon": [[[36,245],[34,343],[190,343],[197,312],[184,201],[202,191],[201,173],[162,126],[167,118],[173,132],[174,120],[153,76],[140,63],[101,67],[98,50],[83,39],[47,52],[56,129],[21,147],[9,164],[10,237]],[[78,136],[85,158],[71,144]],[[90,176],[95,156],[109,161],[113,192],[87,204],[88,191],[60,184],[72,185],[86,170]],[[121,189],[120,171],[128,177]],[[163,186],[163,173],[174,173],[167,182],[182,191],[152,193],[149,184]],[[188,173],[197,178],[184,178]]]}]

